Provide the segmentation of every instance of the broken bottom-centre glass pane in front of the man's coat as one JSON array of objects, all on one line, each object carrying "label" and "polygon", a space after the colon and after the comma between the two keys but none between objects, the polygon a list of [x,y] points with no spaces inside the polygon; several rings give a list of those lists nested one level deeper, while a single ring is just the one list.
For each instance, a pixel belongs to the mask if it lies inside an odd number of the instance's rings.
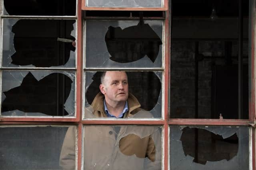
[{"label": "broken bottom-centre glass pane in front of the man's coat", "polygon": [[83,169],[161,170],[161,129],[160,126],[85,126]]}]

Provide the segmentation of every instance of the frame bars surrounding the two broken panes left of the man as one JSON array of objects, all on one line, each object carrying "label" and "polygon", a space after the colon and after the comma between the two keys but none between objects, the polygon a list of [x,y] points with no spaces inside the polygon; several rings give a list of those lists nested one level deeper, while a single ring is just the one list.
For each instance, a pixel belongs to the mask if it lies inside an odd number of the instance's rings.
[{"label": "frame bars surrounding the two broken panes left of the man", "polygon": [[[24,19],[24,20],[32,20],[32,19],[38,19],[38,20],[75,20],[76,21],[76,28],[74,29],[75,34],[76,34],[76,51],[75,51],[75,67],[73,68],[64,68],[64,67],[60,67],[60,68],[48,68],[48,67],[4,67],[2,66],[2,45],[0,46],[0,76],[1,76],[1,80],[0,80],[0,91],[2,92],[2,71],[3,70],[33,70],[33,71],[40,71],[40,70],[56,70],[56,71],[65,71],[65,70],[70,70],[70,71],[75,71],[75,75],[76,78],[74,79],[75,82],[75,94],[74,94],[74,116],[72,117],[65,117],[65,116],[26,116],[26,117],[21,117],[21,116],[2,116],[0,115],[0,123],[2,124],[2,122],[5,121],[12,121],[12,122],[24,122],[24,121],[44,121],[44,122],[77,122],[80,119],[80,94],[78,93],[78,89],[80,88],[80,86],[78,86],[80,84],[80,75],[79,75],[79,69],[80,69],[80,64],[81,63],[81,58],[78,57],[81,53],[78,49],[81,49],[81,47],[78,47],[79,45],[81,46],[81,44],[79,43],[79,39],[78,36],[81,36],[81,31],[78,30],[78,27],[81,27],[81,20],[78,20],[78,18],[81,18],[81,12],[78,11],[79,8],[79,2],[80,0],[76,0],[76,16],[16,16],[16,15],[3,15],[4,12],[4,0],[0,0],[0,20],[1,20],[1,27],[0,27],[0,41],[3,42],[3,20],[4,19]],[[79,23],[80,22],[80,23]],[[80,25],[80,26],[79,26]],[[1,98],[1,96],[0,96]]]}]

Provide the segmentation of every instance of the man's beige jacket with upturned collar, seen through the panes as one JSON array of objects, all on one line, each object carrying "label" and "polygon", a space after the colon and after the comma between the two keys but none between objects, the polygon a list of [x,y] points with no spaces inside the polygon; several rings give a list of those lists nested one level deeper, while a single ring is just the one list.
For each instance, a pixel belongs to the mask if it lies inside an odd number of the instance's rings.
[{"label": "man's beige jacket with upturned collar, seen through the panes", "polygon": [[[86,108],[86,118],[106,117],[104,96],[99,93],[91,107]],[[148,111],[140,108],[138,100],[129,94],[128,111],[124,118],[150,118]],[[86,125],[84,127],[84,170],[160,170],[161,135],[155,126],[121,125],[116,133],[114,125]],[[69,128],[62,151],[60,166],[75,169],[75,128]]]}]

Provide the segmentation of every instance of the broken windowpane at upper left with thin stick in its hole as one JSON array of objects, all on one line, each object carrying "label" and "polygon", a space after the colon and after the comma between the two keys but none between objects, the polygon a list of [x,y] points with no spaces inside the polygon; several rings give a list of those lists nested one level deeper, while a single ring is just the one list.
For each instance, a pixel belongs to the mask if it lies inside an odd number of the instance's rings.
[{"label": "broken windowpane at upper left with thin stick in its hole", "polygon": [[2,66],[75,67],[76,20],[3,20]]}]

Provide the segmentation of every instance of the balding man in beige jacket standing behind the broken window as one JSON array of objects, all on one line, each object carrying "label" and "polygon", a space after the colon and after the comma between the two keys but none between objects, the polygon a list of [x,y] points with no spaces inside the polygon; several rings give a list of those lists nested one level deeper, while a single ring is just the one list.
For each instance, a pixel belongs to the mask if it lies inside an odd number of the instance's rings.
[{"label": "balding man in beige jacket standing behind the broken window", "polygon": [[[122,71],[101,76],[100,93],[86,108],[86,118],[149,118],[128,92]],[[75,167],[75,133],[69,128],[60,155],[63,169]],[[161,136],[154,126],[87,125],[84,127],[84,170],[160,170]]]}]

